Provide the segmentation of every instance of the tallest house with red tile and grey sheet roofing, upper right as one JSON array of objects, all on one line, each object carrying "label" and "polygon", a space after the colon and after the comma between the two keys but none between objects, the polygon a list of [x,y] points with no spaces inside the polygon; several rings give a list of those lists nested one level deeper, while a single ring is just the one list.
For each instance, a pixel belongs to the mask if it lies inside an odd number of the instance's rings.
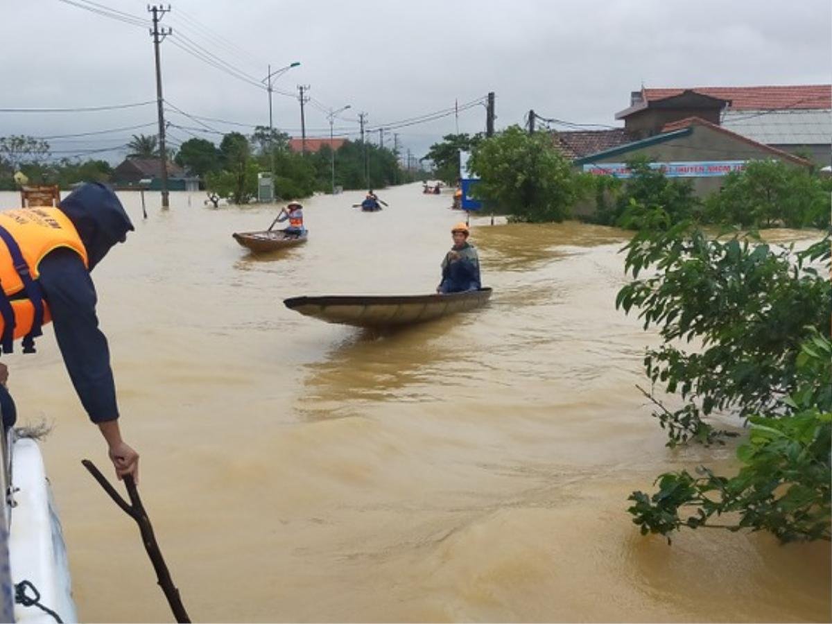
[{"label": "tallest house with red tile and grey sheet roofing, upper right", "polygon": [[832,85],[642,87],[616,119],[631,135],[646,138],[691,116],[782,151],[805,153],[820,165],[832,160]]}]

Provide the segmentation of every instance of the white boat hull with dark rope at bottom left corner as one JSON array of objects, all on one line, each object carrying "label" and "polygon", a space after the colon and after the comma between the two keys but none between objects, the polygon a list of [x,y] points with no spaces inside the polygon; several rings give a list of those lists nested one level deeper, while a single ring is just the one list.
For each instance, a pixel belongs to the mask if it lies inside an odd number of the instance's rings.
[{"label": "white boat hull with dark rope at bottom left corner", "polygon": [[29,599],[39,595],[38,604],[62,622],[77,622],[67,548],[40,447],[15,432],[0,437],[0,482],[6,494],[0,501],[0,561],[5,558],[9,563],[0,567],[0,621],[56,622],[36,604],[13,604],[15,589],[20,587]]}]

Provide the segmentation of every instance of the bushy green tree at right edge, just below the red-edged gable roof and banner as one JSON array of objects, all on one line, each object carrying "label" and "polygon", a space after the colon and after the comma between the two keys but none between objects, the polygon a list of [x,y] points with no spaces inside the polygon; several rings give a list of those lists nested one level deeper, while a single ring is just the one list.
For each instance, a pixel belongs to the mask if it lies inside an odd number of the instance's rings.
[{"label": "bushy green tree at right edge, just below the red-edged gable roof and banner", "polygon": [[743,227],[826,227],[830,194],[820,177],[805,167],[752,161],[745,171],[726,176],[721,191],[708,198],[706,218]]}]

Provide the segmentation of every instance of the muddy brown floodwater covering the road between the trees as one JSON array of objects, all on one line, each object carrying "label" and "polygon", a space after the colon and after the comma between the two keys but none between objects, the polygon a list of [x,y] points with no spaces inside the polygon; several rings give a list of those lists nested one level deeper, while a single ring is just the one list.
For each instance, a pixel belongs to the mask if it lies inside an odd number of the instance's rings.
[{"label": "muddy brown floodwater covering the road between the trees", "polygon": [[[620,230],[473,228],[491,303],[383,337],[295,295],[433,292],[459,213],[420,186],[305,201],[306,245],[231,238],[274,206],[122,193],[136,225],[93,273],[121,427],[195,622],[827,622],[828,544],[641,537],[626,497],[733,449],[664,447],[635,384],[657,344],[614,308]],[[2,208],[17,196],[0,194]],[[136,525],[45,329],[4,357],[44,443],[85,622],[169,622]]]}]

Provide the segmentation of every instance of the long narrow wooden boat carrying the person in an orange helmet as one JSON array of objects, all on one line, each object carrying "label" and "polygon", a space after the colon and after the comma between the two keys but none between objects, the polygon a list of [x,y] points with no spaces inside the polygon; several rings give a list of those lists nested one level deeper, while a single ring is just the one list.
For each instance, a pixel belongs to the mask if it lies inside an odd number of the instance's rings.
[{"label": "long narrow wooden boat carrying the person in an orange helmet", "polygon": [[483,288],[449,295],[292,297],[283,303],[290,310],[328,323],[380,329],[473,310],[490,296],[491,289]]}]

